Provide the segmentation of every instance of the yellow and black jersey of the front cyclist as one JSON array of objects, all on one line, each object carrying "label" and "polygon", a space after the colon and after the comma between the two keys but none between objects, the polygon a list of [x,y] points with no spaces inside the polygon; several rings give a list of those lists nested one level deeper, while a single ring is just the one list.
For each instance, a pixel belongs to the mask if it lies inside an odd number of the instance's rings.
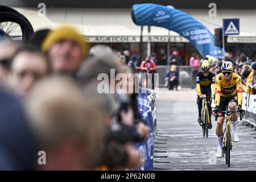
[{"label": "yellow and black jersey of the front cyclist", "polygon": [[241,77],[232,73],[229,81],[224,79],[222,73],[215,77],[215,106],[220,106],[220,97],[232,97],[237,93],[238,105],[242,105],[242,84]]}]

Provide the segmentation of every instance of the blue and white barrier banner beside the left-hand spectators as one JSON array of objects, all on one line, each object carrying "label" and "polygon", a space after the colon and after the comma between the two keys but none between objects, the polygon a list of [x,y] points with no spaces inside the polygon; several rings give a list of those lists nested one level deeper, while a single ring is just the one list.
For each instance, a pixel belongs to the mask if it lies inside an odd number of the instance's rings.
[{"label": "blue and white barrier banner beside the left-hand spectators", "polygon": [[138,109],[144,121],[150,128],[150,137],[143,142],[135,143],[135,147],[141,152],[142,166],[138,170],[148,171],[153,169],[154,129],[156,128],[156,102],[155,91],[140,89],[137,96]]}]

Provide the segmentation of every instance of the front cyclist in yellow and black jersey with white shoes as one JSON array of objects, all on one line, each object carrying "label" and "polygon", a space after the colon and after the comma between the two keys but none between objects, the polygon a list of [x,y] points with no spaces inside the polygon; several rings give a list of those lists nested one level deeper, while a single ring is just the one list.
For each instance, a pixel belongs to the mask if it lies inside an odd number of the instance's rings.
[{"label": "front cyclist in yellow and black jersey with white shoes", "polygon": [[[234,65],[230,61],[224,61],[221,65],[222,73],[215,78],[215,110],[213,114],[217,115],[216,135],[218,138],[217,157],[222,156],[222,139],[223,139],[223,123],[225,114],[218,111],[225,111],[228,105],[230,111],[235,111],[238,106],[238,111],[243,114],[242,108],[242,85],[241,77],[237,73],[233,73]],[[230,115],[232,123],[233,141],[238,142],[237,136],[237,113]]]}]

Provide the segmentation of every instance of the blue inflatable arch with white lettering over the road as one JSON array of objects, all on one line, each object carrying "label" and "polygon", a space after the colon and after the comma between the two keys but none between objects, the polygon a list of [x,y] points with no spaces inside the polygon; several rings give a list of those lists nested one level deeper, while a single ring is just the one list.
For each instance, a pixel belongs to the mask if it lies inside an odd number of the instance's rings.
[{"label": "blue inflatable arch with white lettering over the road", "polygon": [[214,35],[199,21],[173,7],[144,3],[133,5],[133,22],[139,26],[156,26],[175,31],[200,52],[201,56],[222,57],[220,47],[214,46]]}]

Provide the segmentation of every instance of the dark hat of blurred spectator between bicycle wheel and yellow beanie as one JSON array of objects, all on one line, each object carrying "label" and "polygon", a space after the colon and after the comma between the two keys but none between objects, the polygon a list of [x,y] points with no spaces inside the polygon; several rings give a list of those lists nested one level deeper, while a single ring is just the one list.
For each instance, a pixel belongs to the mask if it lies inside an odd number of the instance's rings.
[{"label": "dark hat of blurred spectator between bicycle wheel and yellow beanie", "polygon": [[30,36],[29,39],[29,43],[38,47],[39,49],[41,49],[42,47],[42,43],[44,41],[44,39],[46,38],[47,34],[50,32],[51,30],[46,28],[46,29],[42,29],[42,30],[38,30],[36,32],[34,32],[34,34],[32,34]]}]

